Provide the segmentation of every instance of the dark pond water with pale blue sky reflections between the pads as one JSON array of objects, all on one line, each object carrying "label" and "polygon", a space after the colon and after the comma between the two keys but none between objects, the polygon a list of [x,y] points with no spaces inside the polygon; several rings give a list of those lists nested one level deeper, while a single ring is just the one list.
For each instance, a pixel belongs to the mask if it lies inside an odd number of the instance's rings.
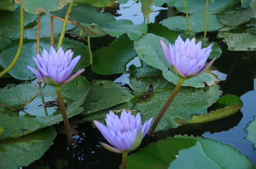
[{"label": "dark pond water with pale blue sky reflections between the pads", "polygon": [[[120,11],[117,12],[122,14],[122,16],[116,19],[129,19],[134,24],[140,24],[144,21],[140,7],[141,4],[133,1],[120,5]],[[155,11],[166,9],[162,7],[154,8]],[[150,14],[150,21],[154,22],[155,16],[158,14],[159,12]],[[214,73],[222,80],[219,82],[219,85],[221,90],[223,90],[223,95],[235,94],[239,96],[244,104],[242,109],[230,117],[213,121],[207,127],[208,130],[205,130],[206,127],[204,129],[191,129],[181,126],[176,129],[156,132],[153,137],[145,136],[139,148],[143,148],[149,143],[166,138],[167,136],[173,137],[175,134],[203,136],[235,147],[237,150],[240,150],[241,154],[246,154],[250,159],[253,159],[254,164],[256,164],[256,150],[253,148],[253,143],[244,138],[247,135],[245,127],[256,115],[256,91],[254,91],[256,52],[227,51],[227,45],[221,42],[221,39],[216,38],[216,32],[209,33],[208,35],[209,41],[220,42],[219,45],[221,45],[223,51],[221,57],[213,63],[217,69]],[[202,34],[199,33],[197,36],[202,36]],[[140,67],[139,58],[134,58],[126,67],[128,68],[130,64]],[[92,79],[110,79],[123,85],[123,87],[129,88],[126,83],[129,81],[128,77],[130,74],[101,76],[91,72],[90,68],[86,68],[82,76],[85,76],[89,81]],[[83,117],[78,115],[75,118],[82,119]],[[57,134],[54,144],[45,152],[42,158],[31,163],[28,167],[20,168],[34,169],[42,166],[49,166],[49,168],[117,168],[121,163],[121,154],[112,153],[102,148],[99,141],[106,143],[106,140],[99,130],[97,128],[94,129],[91,124],[91,122],[86,121],[74,127],[79,131],[78,134],[73,136],[76,143],[74,146],[67,146],[65,134]],[[62,123],[56,126],[61,125]]]}]

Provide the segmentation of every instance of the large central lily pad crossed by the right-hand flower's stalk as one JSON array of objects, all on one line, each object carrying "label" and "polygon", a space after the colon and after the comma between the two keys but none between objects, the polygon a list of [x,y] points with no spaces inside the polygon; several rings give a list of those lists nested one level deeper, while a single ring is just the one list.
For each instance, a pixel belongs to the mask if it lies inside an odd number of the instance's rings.
[{"label": "large central lily pad crossed by the right-hand flower's stalk", "polygon": [[[140,94],[146,91],[150,84],[153,86],[153,94],[151,97],[147,99],[140,98]],[[149,118],[157,116],[175,87],[174,84],[170,83],[162,76],[147,78],[130,77],[129,85],[134,91],[134,97],[131,98],[129,102],[91,114],[85,117],[84,120],[105,118],[109,110],[118,113],[120,110],[130,109],[134,102],[139,100],[137,105],[133,108],[133,113],[137,114],[140,112],[142,123],[145,123]],[[190,119],[193,114],[199,115],[207,112],[207,107],[219,98],[221,92],[217,85],[205,88],[181,87],[155,131],[166,129],[168,126],[169,128],[176,128],[177,124],[174,122],[175,118],[187,120]],[[100,102],[101,100],[98,101]]]}]

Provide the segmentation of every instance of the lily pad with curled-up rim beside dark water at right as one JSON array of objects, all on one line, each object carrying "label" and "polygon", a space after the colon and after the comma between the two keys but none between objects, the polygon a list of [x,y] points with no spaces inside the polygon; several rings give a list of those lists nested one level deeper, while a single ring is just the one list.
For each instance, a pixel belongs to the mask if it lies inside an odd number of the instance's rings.
[{"label": "lily pad with curled-up rim beside dark water at right", "polygon": [[192,119],[187,120],[188,123],[202,123],[210,120],[216,120],[223,117],[230,116],[237,111],[239,111],[243,107],[242,100],[236,96],[227,94],[219,98],[216,103],[221,106],[221,108],[217,110],[210,111],[209,114],[201,114],[199,116],[194,115]]}]

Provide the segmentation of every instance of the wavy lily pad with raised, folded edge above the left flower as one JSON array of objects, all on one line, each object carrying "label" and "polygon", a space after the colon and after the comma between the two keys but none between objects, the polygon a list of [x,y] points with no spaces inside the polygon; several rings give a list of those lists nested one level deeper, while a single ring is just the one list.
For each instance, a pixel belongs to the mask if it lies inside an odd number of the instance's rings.
[{"label": "wavy lily pad with raised, folded edge above the left flower", "polygon": [[[64,18],[63,10],[54,12],[61,18]],[[98,13],[95,8],[89,4],[80,4],[72,8],[70,21],[79,22],[74,25],[84,30],[87,35],[107,35],[121,36],[127,34],[131,40],[138,39],[143,33],[147,32],[145,22],[134,25],[132,21],[121,19],[116,20],[110,13]]]}]

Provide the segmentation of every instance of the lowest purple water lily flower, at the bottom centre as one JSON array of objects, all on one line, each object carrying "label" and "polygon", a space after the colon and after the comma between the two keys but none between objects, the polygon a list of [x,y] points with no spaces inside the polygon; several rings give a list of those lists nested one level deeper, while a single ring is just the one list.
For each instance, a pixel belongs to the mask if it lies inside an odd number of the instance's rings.
[{"label": "lowest purple water lily flower, at the bottom centre", "polygon": [[114,147],[101,142],[100,144],[112,152],[128,153],[139,147],[142,138],[150,127],[153,117],[142,126],[140,113],[134,117],[131,111],[126,113],[123,110],[120,118],[112,111],[109,111],[105,120],[108,127],[97,120],[93,121],[105,139]]}]

